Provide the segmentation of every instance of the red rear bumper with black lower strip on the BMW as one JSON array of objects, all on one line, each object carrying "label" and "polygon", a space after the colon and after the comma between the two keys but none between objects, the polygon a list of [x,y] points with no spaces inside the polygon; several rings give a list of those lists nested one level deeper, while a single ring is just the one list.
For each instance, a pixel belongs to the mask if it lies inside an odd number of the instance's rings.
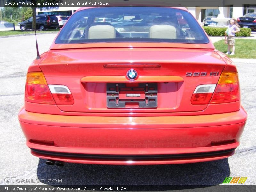
[{"label": "red rear bumper with black lower strip on the BMW", "polygon": [[226,158],[239,145],[246,118],[243,108],[172,117],[61,116],[24,108],[19,113],[33,155],[88,164],[178,164]]}]

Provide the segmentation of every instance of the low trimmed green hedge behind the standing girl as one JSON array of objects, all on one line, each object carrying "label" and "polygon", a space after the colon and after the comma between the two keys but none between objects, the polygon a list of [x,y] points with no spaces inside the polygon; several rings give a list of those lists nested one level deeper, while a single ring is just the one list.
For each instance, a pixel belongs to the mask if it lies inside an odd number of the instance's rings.
[{"label": "low trimmed green hedge behind the standing girl", "polygon": [[[226,27],[203,27],[209,36],[225,36]],[[251,35],[250,28],[240,28],[240,32],[236,33],[236,37],[248,37]]]}]

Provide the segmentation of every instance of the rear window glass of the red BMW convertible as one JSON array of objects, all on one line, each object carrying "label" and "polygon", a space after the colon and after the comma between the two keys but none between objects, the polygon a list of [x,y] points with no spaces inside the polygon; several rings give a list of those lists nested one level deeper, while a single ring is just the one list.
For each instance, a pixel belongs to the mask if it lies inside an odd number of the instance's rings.
[{"label": "rear window glass of the red BMW convertible", "polygon": [[187,11],[166,7],[99,7],[76,12],[55,43],[92,42],[208,43]]}]

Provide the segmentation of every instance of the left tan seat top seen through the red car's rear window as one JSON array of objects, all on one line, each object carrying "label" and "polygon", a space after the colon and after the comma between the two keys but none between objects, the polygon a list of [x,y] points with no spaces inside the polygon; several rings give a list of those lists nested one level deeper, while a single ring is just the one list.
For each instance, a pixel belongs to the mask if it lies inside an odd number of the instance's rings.
[{"label": "left tan seat top seen through the red car's rear window", "polygon": [[88,39],[113,39],[116,38],[116,30],[111,25],[94,25],[89,28]]}]

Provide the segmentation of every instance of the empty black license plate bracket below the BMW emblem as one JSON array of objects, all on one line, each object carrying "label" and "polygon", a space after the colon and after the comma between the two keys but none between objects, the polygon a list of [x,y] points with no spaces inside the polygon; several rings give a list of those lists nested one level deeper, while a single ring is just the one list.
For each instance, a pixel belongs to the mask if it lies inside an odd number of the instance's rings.
[{"label": "empty black license plate bracket below the BMW emblem", "polygon": [[107,108],[157,108],[157,83],[107,83]]}]

